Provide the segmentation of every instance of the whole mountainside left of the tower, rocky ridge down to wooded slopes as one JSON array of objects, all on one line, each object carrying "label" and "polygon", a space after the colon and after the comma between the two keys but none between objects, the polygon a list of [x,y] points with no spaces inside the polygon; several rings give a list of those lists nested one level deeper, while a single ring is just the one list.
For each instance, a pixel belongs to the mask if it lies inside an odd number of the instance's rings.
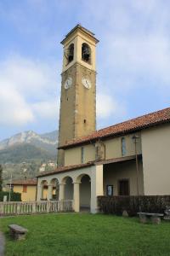
[{"label": "whole mountainside left of the tower, rocky ridge down to wooded slopes", "polygon": [[[3,184],[13,178],[36,177],[42,163],[56,162],[58,131],[37,134],[23,131],[0,142]],[[47,170],[50,171],[49,166]]]}]

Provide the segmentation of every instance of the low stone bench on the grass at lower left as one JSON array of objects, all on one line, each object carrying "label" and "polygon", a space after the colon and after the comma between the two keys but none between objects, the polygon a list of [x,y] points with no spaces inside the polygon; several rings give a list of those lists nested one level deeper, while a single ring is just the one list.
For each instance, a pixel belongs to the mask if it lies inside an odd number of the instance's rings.
[{"label": "low stone bench on the grass at lower left", "polygon": [[15,240],[24,240],[26,238],[26,233],[28,230],[25,228],[17,225],[17,224],[10,224],[8,225],[9,234]]}]

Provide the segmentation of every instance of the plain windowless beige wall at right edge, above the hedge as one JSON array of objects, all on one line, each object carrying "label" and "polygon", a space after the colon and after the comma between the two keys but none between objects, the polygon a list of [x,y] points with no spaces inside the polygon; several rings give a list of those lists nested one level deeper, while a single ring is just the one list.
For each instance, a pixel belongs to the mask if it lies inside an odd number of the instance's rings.
[{"label": "plain windowless beige wall at right edge, above the hedge", "polygon": [[170,125],[142,131],[144,195],[170,195]]}]

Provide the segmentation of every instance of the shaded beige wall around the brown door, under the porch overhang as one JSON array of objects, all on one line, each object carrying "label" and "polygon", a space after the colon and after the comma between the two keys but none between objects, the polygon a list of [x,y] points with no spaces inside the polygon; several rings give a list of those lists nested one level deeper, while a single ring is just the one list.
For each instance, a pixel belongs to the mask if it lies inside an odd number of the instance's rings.
[{"label": "shaded beige wall around the brown door, under the porch overhang", "polygon": [[[144,195],[144,181],[142,169],[142,161],[139,160],[139,195]],[[105,165],[104,194],[106,195],[106,185],[113,185],[113,195],[118,195],[118,181],[124,178],[129,180],[130,195],[138,195],[135,160]]]}]

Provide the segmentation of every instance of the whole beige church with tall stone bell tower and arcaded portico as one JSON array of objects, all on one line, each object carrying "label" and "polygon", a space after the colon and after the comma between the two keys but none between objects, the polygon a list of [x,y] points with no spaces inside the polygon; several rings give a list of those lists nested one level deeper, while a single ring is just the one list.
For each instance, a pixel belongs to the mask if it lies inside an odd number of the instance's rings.
[{"label": "whole beige church with tall stone bell tower and arcaded portico", "polygon": [[96,131],[98,42],[80,25],[61,42],[58,167],[37,182],[38,201],[73,200],[76,212],[97,212],[99,195],[170,194],[170,108]]}]

